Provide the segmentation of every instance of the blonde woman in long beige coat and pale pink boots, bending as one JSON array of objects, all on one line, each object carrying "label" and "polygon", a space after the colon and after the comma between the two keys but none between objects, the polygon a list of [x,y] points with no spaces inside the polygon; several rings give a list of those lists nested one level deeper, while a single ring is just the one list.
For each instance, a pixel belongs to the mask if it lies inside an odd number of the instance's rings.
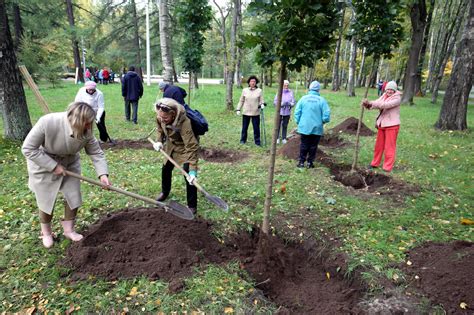
[{"label": "blonde woman in long beige coat and pale pink boots, bending", "polygon": [[64,236],[80,241],[74,231],[77,209],[82,204],[79,179],[65,176],[69,170],[81,173],[79,151],[84,148],[90,156],[100,181],[109,186],[105,155],[92,133],[95,112],[86,103],[75,102],[67,112],[41,117],[26,137],[22,152],[28,167],[28,186],[35,193],[39,208],[43,245],[53,245],[51,221],[58,192],[64,199]]}]

